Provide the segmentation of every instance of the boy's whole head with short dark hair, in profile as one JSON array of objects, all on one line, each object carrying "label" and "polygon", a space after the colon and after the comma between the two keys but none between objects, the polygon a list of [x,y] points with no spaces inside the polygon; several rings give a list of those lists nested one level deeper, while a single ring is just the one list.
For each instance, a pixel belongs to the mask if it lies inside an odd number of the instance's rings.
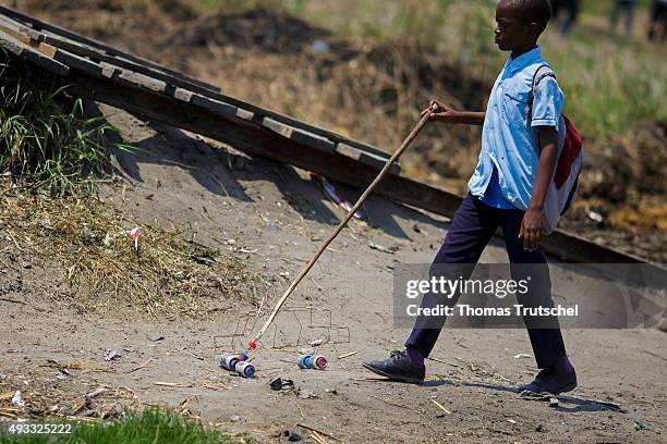
[{"label": "boy's whole head with short dark hair, in profile", "polygon": [[500,0],[496,8],[496,45],[504,51],[524,52],[535,46],[549,18],[548,0]]}]

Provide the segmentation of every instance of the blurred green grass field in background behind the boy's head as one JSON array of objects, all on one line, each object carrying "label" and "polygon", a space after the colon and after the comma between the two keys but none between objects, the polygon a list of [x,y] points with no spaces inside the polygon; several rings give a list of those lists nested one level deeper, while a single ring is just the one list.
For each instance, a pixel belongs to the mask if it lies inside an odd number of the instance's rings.
[{"label": "blurred green grass field in background behind the boy's head", "polygon": [[[239,9],[226,0],[190,0],[201,8]],[[463,75],[493,84],[507,53],[493,41],[490,0],[254,0],[357,41],[416,41],[435,49]],[[638,8],[631,38],[608,32],[609,4],[584,1],[579,23],[561,38],[554,24],[542,38],[567,96],[568,113],[583,134],[604,141],[646,122],[667,121],[665,49],[645,41],[646,3]],[[598,4],[601,3],[601,4]],[[611,2],[609,2],[611,3]]]}]

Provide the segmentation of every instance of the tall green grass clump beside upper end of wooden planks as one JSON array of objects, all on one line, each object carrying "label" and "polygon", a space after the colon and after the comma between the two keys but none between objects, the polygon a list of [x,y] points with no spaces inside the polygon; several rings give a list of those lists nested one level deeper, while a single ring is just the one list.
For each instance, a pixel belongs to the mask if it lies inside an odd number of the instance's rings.
[{"label": "tall green grass clump beside upper end of wooden planks", "polygon": [[109,144],[113,126],[86,119],[81,99],[28,67],[0,47],[0,173],[52,196],[95,193],[112,171],[111,148],[134,148]]}]

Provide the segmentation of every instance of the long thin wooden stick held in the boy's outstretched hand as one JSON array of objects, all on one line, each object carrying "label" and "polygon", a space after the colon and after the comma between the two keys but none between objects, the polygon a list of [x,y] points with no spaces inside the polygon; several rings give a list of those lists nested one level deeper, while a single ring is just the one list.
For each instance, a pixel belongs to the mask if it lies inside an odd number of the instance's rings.
[{"label": "long thin wooden stick held in the boy's outstretched hand", "polygon": [[290,284],[288,289],[284,292],[280,300],[278,300],[278,304],[276,304],[276,307],[274,307],[274,311],[271,311],[271,314],[269,316],[269,318],[266,320],[266,322],[262,326],[262,330],[259,330],[259,333],[257,333],[257,335],[255,336],[255,340],[254,340],[255,343],[259,341],[259,338],[262,337],[266,329],[268,329],[271,322],[274,322],[276,314],[278,314],[278,311],[280,311],[280,308],[282,307],[287,298],[292,294],[294,288],[296,288],[296,285],[299,285],[301,280],[305,278],[308,271],[311,271],[315,262],[317,262],[317,259],[319,259],[319,257],[327,249],[329,244],[336,238],[336,236],[338,236],[338,234],[342,231],[342,229],[348,224],[350,219],[352,219],[356,210],[359,210],[359,208],[366,200],[371,192],[373,192],[373,188],[375,188],[375,186],[383,180],[387,171],[389,171],[389,168],[391,166],[391,164],[403,153],[403,151],[405,150],[405,148],[408,148],[408,146],[412,143],[412,140],[414,140],[414,138],[420,133],[420,131],[424,127],[426,122],[428,122],[429,118],[430,118],[430,113],[428,112],[422,116],[422,120],[417,122],[417,124],[414,126],[414,128],[412,128],[412,132],[410,132],[405,140],[403,140],[403,143],[401,144],[401,147],[389,158],[389,160],[387,160],[387,163],[385,163],[385,166],[381,169],[377,177],[375,177],[375,180],[371,183],[371,185],[368,185],[366,190],[356,200],[356,203],[354,203],[354,207],[352,207],[352,209],[348,212],[348,215],[345,215],[344,219],[338,224],[336,230],[333,230],[333,232],[329,234],[329,237],[327,237],[327,239],[322,244],[317,252],[315,252],[315,256],[313,257],[313,259],[311,259],[311,261],[306,263],[303,270],[301,270],[299,275],[294,279],[294,281]]}]

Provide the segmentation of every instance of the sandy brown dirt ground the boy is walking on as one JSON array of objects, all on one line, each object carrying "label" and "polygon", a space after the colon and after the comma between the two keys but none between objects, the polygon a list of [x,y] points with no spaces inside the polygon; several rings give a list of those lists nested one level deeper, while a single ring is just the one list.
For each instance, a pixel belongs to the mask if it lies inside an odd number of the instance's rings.
[{"label": "sandy brown dirt ground the boy is walking on", "polygon": [[[216,150],[123,112],[110,121],[146,152],[122,159],[132,184],[124,193],[107,190],[104,199],[140,222],[177,227],[199,243],[256,250],[235,255],[252,270],[274,276],[278,294],[341,215],[303,171]],[[343,193],[354,197],[350,189]],[[380,198],[372,198],[366,211],[374,226],[355,223],[341,234],[290,299],[292,311],[279,317],[279,332],[265,337],[275,337],[277,345],[294,342],[301,322],[301,345],[256,350],[256,379],[217,367],[217,356],[232,346],[220,336],[233,333],[251,307],[230,304],[201,320],[147,319],[120,306],[108,314],[82,314],[49,298],[50,282],[62,271],[34,267],[24,287],[12,294],[24,304],[0,301],[0,382],[11,390],[77,396],[98,384],[126,387],[118,390],[130,406],[175,408],[190,399],[185,407],[194,415],[248,432],[258,442],[284,442],[287,429],[307,437],[296,423],[352,443],[667,441],[667,343],[657,330],[565,331],[580,388],[557,408],[513,392],[535,372],[532,359],[513,358],[531,353],[522,330],[447,330],[433,354],[447,363],[428,361],[423,385],[367,380],[373,375],[361,360],[401,348],[408,334],[392,326],[393,262],[428,262],[447,222]],[[371,249],[369,240],[397,250]],[[498,239],[483,260],[507,260]],[[330,310],[331,322],[341,329],[310,329],[310,313],[294,311],[308,305]],[[314,317],[315,324],[328,323],[327,311]],[[299,370],[293,363],[299,348],[327,334],[330,342],[318,349],[329,357],[329,369]],[[243,336],[235,344],[240,341]],[[105,361],[108,349],[121,357]],[[336,358],[352,351],[356,355]],[[71,375],[58,377],[56,368],[44,367],[48,359],[85,365],[70,366]],[[292,379],[299,392],[270,391],[274,375]],[[182,386],[155,385],[158,381]],[[626,412],[580,398],[613,400]],[[450,414],[441,416],[432,399]],[[651,430],[636,431],[634,421]]]}]

